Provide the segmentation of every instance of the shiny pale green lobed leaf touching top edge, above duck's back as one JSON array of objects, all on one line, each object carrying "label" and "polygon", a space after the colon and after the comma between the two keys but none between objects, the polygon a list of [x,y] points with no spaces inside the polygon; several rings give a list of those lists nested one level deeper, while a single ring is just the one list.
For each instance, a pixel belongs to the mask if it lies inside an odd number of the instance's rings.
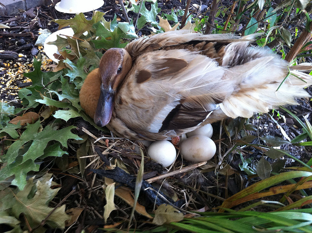
[{"label": "shiny pale green lobed leaf touching top edge, above duck's back", "polygon": [[[135,13],[139,12],[139,5],[133,5],[135,8]],[[151,10],[146,9],[145,4],[143,2],[140,14],[141,17],[137,20],[137,28],[141,29],[144,27],[146,23],[151,23],[153,27],[159,28],[158,23],[156,21],[156,17],[160,12],[160,8],[158,8],[157,1],[154,4],[151,4]]]}]

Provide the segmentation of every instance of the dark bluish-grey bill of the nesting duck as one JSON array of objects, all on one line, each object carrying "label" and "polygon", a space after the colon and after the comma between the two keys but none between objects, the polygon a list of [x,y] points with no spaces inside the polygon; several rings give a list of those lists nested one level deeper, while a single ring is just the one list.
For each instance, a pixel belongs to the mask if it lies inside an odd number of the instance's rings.
[{"label": "dark bluish-grey bill of the nesting duck", "polygon": [[94,122],[98,126],[103,127],[111,120],[114,110],[115,91],[111,87],[104,88],[103,83],[101,84],[100,90]]}]

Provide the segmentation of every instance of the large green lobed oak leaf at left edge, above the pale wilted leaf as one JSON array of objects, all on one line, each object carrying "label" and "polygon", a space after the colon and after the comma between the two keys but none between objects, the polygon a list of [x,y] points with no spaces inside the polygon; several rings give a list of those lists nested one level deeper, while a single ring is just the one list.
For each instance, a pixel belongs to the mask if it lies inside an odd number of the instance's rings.
[{"label": "large green lobed oak leaf at left edge, above the pale wilted leaf", "polygon": [[[44,155],[48,142],[58,141],[63,147],[67,147],[68,139],[80,139],[70,131],[75,128],[74,126],[56,131],[52,129],[51,125],[48,125],[38,133],[39,127],[41,127],[40,121],[27,125],[27,129],[22,133],[20,139],[15,141],[6,154],[2,156],[2,160],[8,164],[0,170],[0,181],[15,175],[12,184],[19,186],[20,190],[22,190],[26,185],[27,172],[39,170],[39,164],[35,164],[35,160]],[[20,149],[26,143],[30,143],[30,146],[24,152]],[[66,152],[63,154],[66,154]],[[54,156],[59,156],[59,154]]]}]

